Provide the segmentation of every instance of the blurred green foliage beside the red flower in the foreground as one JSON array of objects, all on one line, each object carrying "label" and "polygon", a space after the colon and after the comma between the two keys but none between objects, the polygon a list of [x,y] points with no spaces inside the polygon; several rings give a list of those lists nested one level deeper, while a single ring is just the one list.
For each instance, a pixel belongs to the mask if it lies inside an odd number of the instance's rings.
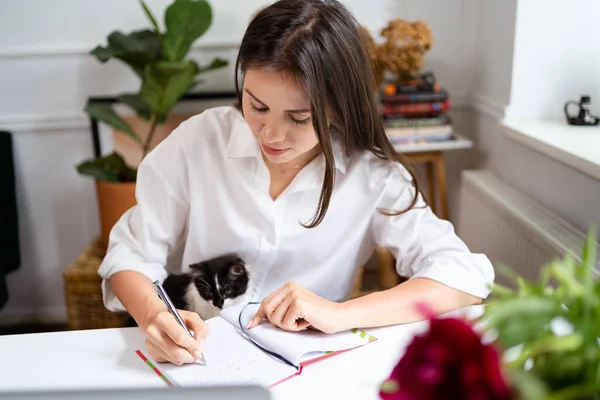
[{"label": "blurred green foliage beside the red flower in the foreground", "polygon": [[597,248],[591,228],[579,259],[567,253],[544,265],[537,281],[506,269],[516,288],[495,285],[483,321],[519,383],[541,389],[541,395],[523,397],[600,399]]}]

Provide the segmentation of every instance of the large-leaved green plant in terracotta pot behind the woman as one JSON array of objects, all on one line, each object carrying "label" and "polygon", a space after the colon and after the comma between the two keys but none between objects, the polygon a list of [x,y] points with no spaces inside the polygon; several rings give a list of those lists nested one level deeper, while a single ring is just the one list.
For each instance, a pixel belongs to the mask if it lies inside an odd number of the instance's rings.
[{"label": "large-leaved green plant in terracotta pot behind the woman", "polygon": [[[228,63],[215,58],[200,67],[186,56],[192,44],[210,27],[212,9],[206,0],[174,0],[165,11],[161,31],[150,9],[140,0],[141,7],[152,24],[144,29],[124,34],[112,32],[106,46],[91,51],[100,62],[117,59],[129,66],[140,78],[138,93],[124,93],[117,97],[133,111],[129,121],[122,118],[106,102],[88,101],[85,111],[92,118],[111,126],[128,145],[137,147],[138,157],[127,162],[123,154],[113,151],[96,159],[85,160],[77,165],[82,175],[95,178],[101,221],[101,237],[108,244],[110,230],[121,215],[135,204],[135,181],[137,166],[148,152],[160,141],[157,132],[175,127],[177,121],[169,121],[170,113],[180,98],[196,83],[197,75],[226,66]],[[168,133],[167,133],[168,134]]]}]

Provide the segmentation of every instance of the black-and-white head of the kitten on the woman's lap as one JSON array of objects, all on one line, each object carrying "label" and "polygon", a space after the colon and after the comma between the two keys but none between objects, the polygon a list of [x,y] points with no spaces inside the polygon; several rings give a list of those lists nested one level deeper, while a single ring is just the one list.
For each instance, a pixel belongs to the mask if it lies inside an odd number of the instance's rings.
[{"label": "black-and-white head of the kitten on the woman's lap", "polygon": [[198,293],[215,307],[246,293],[249,274],[244,260],[235,254],[190,265]]}]

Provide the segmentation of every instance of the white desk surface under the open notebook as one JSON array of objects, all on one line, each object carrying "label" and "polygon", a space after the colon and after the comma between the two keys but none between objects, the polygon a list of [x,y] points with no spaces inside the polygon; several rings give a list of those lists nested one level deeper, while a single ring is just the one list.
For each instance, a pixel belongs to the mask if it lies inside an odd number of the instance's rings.
[{"label": "white desk surface under the open notebook", "polygon": [[[479,315],[482,306],[452,314]],[[378,340],[304,368],[271,389],[273,399],[378,399],[378,385],[425,322],[369,329]],[[165,387],[134,353],[138,328],[0,336],[2,391],[69,388]],[[313,396],[313,397],[310,397]]]}]

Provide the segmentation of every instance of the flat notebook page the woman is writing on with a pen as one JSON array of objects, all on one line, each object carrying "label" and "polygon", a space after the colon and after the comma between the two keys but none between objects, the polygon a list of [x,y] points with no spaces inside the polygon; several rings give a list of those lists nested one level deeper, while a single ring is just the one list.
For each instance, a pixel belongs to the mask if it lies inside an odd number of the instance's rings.
[{"label": "flat notebook page the woman is writing on with a pen", "polygon": [[207,365],[155,363],[173,384],[269,386],[296,373],[295,368],[264,353],[222,318],[206,322],[210,328],[204,346]]}]

